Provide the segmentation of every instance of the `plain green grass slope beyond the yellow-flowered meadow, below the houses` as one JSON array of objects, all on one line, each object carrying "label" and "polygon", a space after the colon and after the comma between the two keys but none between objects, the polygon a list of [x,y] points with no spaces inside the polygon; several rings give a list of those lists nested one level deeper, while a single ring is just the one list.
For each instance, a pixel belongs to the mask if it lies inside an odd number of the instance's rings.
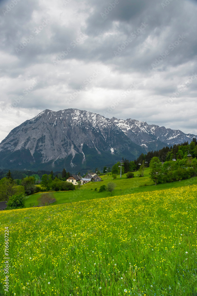
[{"label": "plain green grass slope beyond the yellow-flowered meadow, below the houses", "polygon": [[[114,182],[116,184],[115,190],[113,191],[113,196],[145,191],[178,188],[180,186],[197,184],[197,177],[195,177],[188,180],[182,180],[180,182],[158,184],[157,186],[154,186],[154,182],[151,181],[149,178],[149,168],[146,168],[146,170],[144,171],[144,177],[139,178],[138,176],[136,176],[138,174],[139,172],[134,172],[135,177],[132,179],[127,179],[126,174],[124,174],[122,178],[120,178],[119,175],[115,180],[112,180],[112,176],[104,175],[101,176],[103,182],[89,182],[87,184],[80,186],[80,190],[78,190],[76,186],[75,191],[53,192],[54,197],[57,200],[53,205],[67,202],[76,202],[82,200],[110,197],[110,192],[98,192],[99,187],[104,184],[107,185],[108,182]],[[146,184],[147,186],[144,186],[144,184]],[[91,188],[93,190],[90,190]],[[97,188],[97,191],[95,191],[95,188]],[[40,194],[41,193],[28,196],[25,202],[25,206],[30,207],[30,203],[35,203],[35,205],[38,205],[37,198],[40,196]]]}]

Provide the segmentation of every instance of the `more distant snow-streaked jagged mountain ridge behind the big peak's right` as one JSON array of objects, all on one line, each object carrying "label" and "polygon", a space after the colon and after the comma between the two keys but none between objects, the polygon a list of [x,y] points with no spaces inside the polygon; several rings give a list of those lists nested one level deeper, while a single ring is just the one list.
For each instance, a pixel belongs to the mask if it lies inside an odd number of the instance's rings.
[{"label": "more distant snow-streaked jagged mountain ridge behind the big peak's right", "polygon": [[187,141],[191,143],[193,138],[197,138],[196,135],[185,134],[180,130],[172,130],[154,124],[149,125],[146,122],[131,118],[123,120],[113,117],[110,120],[118,126],[133,143],[144,147],[147,152]]}]

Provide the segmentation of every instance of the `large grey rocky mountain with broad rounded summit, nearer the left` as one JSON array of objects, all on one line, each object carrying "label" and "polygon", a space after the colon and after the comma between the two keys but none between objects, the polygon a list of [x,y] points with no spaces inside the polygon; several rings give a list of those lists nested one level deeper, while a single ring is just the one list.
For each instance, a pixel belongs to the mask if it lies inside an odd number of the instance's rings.
[{"label": "large grey rocky mountain with broad rounded summit, nearer the left", "polygon": [[0,167],[70,172],[134,160],[145,149],[109,118],[66,109],[44,110],[14,128],[0,144]]}]

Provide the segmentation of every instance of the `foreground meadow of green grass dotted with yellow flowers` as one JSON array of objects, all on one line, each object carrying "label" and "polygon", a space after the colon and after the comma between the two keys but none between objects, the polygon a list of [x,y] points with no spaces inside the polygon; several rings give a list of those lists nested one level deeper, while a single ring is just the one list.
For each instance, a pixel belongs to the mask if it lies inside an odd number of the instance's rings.
[{"label": "foreground meadow of green grass dotted with yellow flowers", "polygon": [[196,296],[196,218],[197,185],[2,211],[0,295]]}]

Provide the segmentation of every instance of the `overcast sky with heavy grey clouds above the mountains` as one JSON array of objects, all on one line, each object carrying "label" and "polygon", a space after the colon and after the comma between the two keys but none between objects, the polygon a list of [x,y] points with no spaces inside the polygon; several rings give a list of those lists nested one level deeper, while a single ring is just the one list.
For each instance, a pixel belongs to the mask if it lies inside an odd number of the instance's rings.
[{"label": "overcast sky with heavy grey clouds above the mountains", "polygon": [[197,1],[0,1],[0,141],[76,108],[197,135]]}]

